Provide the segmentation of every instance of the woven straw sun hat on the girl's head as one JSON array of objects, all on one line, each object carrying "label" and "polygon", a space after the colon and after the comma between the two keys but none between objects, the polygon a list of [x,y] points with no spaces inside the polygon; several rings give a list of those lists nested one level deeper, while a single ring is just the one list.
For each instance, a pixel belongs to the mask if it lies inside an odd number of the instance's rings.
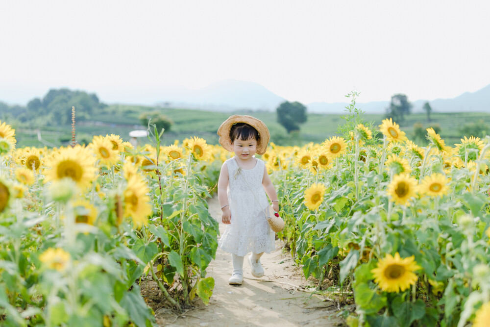
[{"label": "woven straw sun hat on the girl's head", "polygon": [[223,124],[221,124],[220,128],[218,128],[218,135],[220,135],[219,142],[223,146],[223,148],[233,152],[233,145],[230,139],[230,129],[231,126],[237,123],[245,123],[257,129],[260,136],[260,139],[257,142],[257,153],[266,153],[267,145],[269,144],[270,139],[269,129],[267,129],[266,124],[264,124],[262,121],[258,120],[255,117],[246,115],[230,116],[230,118],[228,118]]}]

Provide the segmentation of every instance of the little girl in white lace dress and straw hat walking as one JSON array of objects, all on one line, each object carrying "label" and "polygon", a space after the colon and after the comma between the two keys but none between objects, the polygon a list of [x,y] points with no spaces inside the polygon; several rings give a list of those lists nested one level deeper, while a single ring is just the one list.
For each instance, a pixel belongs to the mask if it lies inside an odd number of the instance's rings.
[{"label": "little girl in white lace dress and straw hat walking", "polygon": [[264,161],[254,157],[264,154],[269,143],[269,130],[260,120],[251,116],[233,115],[218,129],[220,144],[235,156],[221,167],[218,181],[218,200],[222,222],[227,224],[219,246],[231,252],[233,274],[230,285],[242,285],[244,256],[252,276],[264,276],[260,257],[274,249],[274,232],[267,222],[265,210],[269,205],[279,211],[274,185],[267,174]]}]

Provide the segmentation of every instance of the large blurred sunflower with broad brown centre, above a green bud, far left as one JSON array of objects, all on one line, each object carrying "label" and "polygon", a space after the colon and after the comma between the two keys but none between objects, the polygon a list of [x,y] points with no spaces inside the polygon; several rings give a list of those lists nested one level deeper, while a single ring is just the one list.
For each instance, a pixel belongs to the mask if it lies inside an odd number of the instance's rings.
[{"label": "large blurred sunflower with broad brown centre, above a green bud, far left", "polygon": [[63,148],[49,163],[45,181],[69,177],[80,189],[85,189],[96,177],[94,164],[95,158],[87,148],[80,145]]}]

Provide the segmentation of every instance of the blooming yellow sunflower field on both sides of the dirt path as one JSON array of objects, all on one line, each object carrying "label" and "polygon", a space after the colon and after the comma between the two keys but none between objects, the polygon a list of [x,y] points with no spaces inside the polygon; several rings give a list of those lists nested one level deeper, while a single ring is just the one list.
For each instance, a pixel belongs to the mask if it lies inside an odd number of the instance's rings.
[{"label": "blooming yellow sunflower field on both sides of the dirt path", "polygon": [[[262,156],[285,242],[317,293],[355,302],[356,326],[487,326],[490,137],[427,147],[386,119],[363,120],[356,94],[339,136]],[[150,129],[151,132],[151,129]],[[208,303],[218,223],[206,198],[231,153],[192,138],[133,149],[16,149],[0,122],[0,322],[5,326],[152,326],[154,280],[182,310]]]}]

